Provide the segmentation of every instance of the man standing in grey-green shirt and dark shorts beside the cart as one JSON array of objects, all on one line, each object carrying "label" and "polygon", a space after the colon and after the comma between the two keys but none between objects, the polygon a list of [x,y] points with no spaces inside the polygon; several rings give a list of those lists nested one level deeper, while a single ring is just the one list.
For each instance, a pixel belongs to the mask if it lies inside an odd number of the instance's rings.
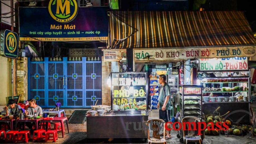
[{"label": "man standing in grey-green shirt and dark shorts beside the cart", "polygon": [[[159,101],[157,108],[159,108],[159,119],[163,119],[166,122],[170,121],[171,102],[170,102],[170,86],[166,83],[166,76],[164,74],[159,75],[159,84],[161,84],[159,92]],[[167,124],[170,128],[170,124]],[[166,131],[165,139],[171,139],[171,131]],[[162,136],[161,134],[160,136]]]}]

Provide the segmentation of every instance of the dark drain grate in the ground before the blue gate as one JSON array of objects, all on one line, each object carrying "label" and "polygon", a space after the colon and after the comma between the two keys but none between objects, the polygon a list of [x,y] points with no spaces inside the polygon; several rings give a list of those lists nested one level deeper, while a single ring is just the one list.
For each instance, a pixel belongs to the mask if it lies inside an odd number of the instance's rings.
[{"label": "dark drain grate in the ground before the blue gate", "polygon": [[86,120],[86,112],[87,110],[75,110],[69,118],[69,123],[84,124],[84,121]]}]

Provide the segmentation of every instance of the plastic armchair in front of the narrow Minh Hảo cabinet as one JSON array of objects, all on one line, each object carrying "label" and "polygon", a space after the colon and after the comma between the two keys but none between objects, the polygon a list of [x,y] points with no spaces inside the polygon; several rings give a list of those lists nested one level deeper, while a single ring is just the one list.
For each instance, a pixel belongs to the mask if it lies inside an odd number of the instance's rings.
[{"label": "plastic armchair in front of the narrow Minh H\u1ea3o cabinet", "polygon": [[186,127],[183,126],[183,123],[190,122],[190,126],[193,129],[194,126],[192,122],[198,123],[200,122],[200,119],[194,116],[188,116],[182,119],[182,131],[183,131],[183,140],[184,144],[187,144],[188,142],[199,142],[199,144],[203,143],[203,140],[201,139],[201,135],[196,135],[196,130],[185,130],[188,128],[188,124],[186,123]]}]

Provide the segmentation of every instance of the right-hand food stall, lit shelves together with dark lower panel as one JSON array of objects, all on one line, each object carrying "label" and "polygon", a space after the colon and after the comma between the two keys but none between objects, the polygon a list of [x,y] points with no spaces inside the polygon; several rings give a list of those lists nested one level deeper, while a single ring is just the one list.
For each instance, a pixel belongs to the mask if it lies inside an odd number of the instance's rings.
[{"label": "right-hand food stall, lit shelves together with dark lower panel", "polygon": [[250,123],[250,70],[201,71],[198,78],[203,85],[203,113],[229,112],[226,119]]}]

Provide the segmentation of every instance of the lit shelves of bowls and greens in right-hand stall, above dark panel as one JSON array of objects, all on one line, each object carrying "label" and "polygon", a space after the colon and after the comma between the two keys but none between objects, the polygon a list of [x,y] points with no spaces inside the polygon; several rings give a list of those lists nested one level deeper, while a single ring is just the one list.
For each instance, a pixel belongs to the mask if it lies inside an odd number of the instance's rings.
[{"label": "lit shelves of bowls and greens in right-hand stall, above dark panel", "polygon": [[198,72],[198,78],[203,85],[203,96],[223,97],[204,103],[248,102],[250,99],[250,71]]}]

